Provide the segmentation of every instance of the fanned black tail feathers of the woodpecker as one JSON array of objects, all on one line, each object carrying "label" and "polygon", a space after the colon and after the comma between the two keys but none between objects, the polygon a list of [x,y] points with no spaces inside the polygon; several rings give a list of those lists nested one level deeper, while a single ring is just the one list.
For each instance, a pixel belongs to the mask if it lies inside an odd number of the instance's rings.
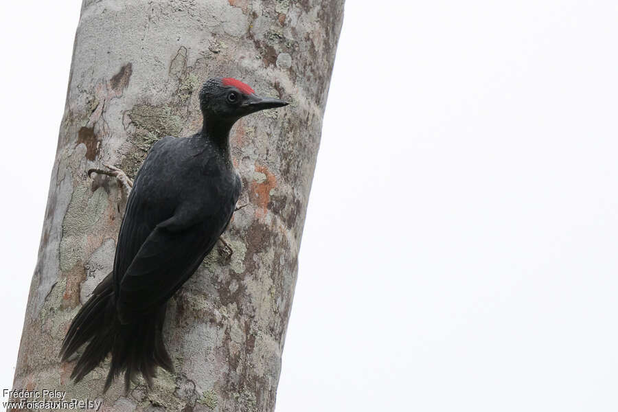
[{"label": "fanned black tail feathers of the woodpecker", "polygon": [[123,371],[126,392],[138,373],[152,387],[157,366],[170,372],[174,370],[163,343],[164,320],[165,305],[139,323],[120,323],[115,308],[113,275],[110,273],[82,306],[62,342],[62,361],[68,361],[80,346],[88,343],[73,368],[71,379],[79,382],[111,353],[104,393]]}]

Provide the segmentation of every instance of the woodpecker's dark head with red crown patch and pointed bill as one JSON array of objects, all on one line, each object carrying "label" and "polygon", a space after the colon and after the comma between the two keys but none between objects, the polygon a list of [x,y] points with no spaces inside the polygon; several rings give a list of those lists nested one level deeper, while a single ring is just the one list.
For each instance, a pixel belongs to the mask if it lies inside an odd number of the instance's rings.
[{"label": "woodpecker's dark head with red crown patch and pointed bill", "polygon": [[200,91],[200,108],[205,119],[236,122],[240,117],[266,108],[286,106],[279,99],[262,98],[247,84],[234,78],[212,78]]}]

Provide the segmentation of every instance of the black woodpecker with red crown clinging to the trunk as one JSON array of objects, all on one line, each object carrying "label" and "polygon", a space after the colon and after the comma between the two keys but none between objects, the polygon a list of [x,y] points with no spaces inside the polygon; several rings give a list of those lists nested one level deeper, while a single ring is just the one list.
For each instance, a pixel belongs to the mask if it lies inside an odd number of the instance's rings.
[{"label": "black woodpecker with red crown clinging to the trunk", "polygon": [[123,371],[128,391],[138,373],[152,386],[157,366],[173,370],[161,333],[166,302],[214,247],[240,196],[229,131],[240,117],[286,104],[260,98],[239,80],[213,78],[200,91],[202,129],[152,146],[128,197],[113,271],[62,342],[62,361],[88,343],[73,380],[79,382],[110,353],[104,391]]}]

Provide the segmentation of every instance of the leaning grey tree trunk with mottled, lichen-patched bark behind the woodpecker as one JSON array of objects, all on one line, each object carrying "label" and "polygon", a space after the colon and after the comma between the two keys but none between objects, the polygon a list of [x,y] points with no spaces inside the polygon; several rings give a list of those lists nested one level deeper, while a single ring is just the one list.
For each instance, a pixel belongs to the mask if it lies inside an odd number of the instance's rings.
[{"label": "leaning grey tree trunk with mottled, lichen-patched bark behind the woodpecker", "polygon": [[[67,391],[103,411],[272,411],[343,0],[84,0],[32,277],[14,389]],[[198,91],[231,76],[292,102],[230,135],[243,192],[220,247],[168,303],[176,367],[127,396],[101,394],[108,363],[77,385],[60,342],[111,271],[126,196],[89,168],[134,177],[165,135],[201,127]],[[42,400],[39,398],[38,400]],[[25,407],[24,409],[28,409]]]}]

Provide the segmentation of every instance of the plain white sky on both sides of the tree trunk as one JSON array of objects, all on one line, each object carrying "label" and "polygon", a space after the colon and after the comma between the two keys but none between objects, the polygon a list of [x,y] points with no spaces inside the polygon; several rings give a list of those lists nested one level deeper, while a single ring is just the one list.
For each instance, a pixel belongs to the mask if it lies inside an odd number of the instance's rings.
[{"label": "plain white sky on both sides of the tree trunk", "polygon": [[[0,389],[80,0],[5,2]],[[618,409],[618,5],[348,0],[277,411]]]}]

